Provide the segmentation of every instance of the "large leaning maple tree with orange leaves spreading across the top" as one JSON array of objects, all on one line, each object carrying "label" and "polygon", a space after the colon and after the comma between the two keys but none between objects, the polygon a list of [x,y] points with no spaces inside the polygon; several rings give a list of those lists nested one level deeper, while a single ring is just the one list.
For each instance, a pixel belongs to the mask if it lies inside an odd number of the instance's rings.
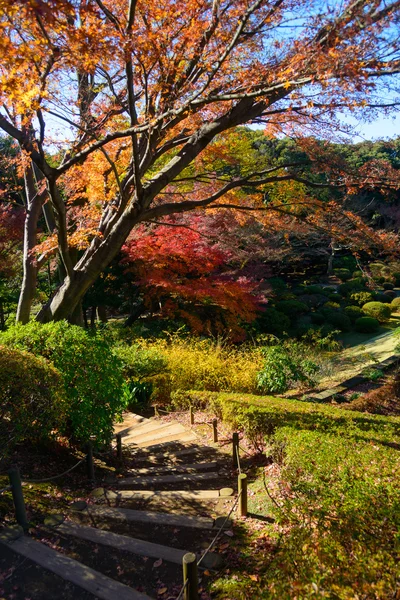
[{"label": "large leaning maple tree with orange leaves spreading across the top", "polygon": [[[21,148],[30,217],[19,319],[38,264],[55,252],[65,276],[42,321],[77,318],[137,225],[210,206],[262,208],[263,186],[301,181],[292,162],[246,164],[243,145],[228,160],[237,126],[299,135],[316,125],[322,135],[337,111],[396,106],[388,89],[400,68],[399,8],[0,0],[0,128]],[[38,245],[43,207],[54,222]]]}]

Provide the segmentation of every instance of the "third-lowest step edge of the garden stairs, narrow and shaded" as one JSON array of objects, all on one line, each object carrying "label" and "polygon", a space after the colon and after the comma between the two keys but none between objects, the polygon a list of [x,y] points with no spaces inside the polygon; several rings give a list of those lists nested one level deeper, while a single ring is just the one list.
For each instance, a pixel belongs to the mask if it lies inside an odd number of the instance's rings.
[{"label": "third-lowest step edge of the garden stairs, narrow and shaded", "polygon": [[126,521],[167,525],[172,527],[191,527],[193,529],[213,529],[214,519],[207,517],[191,517],[170,513],[151,512],[148,510],[132,510],[130,508],[111,508],[108,506],[89,506],[91,518],[104,521]]}]

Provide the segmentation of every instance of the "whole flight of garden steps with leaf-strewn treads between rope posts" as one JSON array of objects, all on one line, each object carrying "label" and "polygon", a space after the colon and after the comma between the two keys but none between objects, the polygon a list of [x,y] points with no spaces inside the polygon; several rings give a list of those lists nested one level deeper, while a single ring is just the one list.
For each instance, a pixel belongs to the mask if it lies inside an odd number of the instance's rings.
[{"label": "whole flight of garden steps with leaf-strewn treads between rope posts", "polygon": [[[200,558],[235,501],[231,460],[178,422],[128,414],[117,433],[122,472],[32,536],[8,530],[0,543],[74,584],[74,600],[177,598],[183,556]],[[202,561],[220,566],[212,551]]]}]

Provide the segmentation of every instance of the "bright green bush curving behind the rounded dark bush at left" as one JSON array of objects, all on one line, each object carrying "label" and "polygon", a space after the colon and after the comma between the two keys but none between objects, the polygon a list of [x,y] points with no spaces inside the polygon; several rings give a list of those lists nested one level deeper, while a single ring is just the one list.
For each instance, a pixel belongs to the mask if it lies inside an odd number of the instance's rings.
[{"label": "bright green bush curving behind the rounded dark bush at left", "polygon": [[65,321],[16,325],[0,342],[43,356],[61,372],[68,401],[66,434],[98,444],[111,441],[113,422],[123,408],[122,364],[106,339]]}]

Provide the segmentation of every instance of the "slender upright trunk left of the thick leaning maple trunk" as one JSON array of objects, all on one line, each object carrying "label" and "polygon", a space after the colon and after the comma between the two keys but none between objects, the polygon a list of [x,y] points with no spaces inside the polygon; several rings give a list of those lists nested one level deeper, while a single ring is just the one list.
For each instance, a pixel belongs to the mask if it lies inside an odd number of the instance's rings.
[{"label": "slender upright trunk left of the thick leaning maple trunk", "polygon": [[34,254],[37,244],[37,225],[46,194],[39,193],[32,166],[24,173],[26,191],[26,217],[24,224],[23,279],[18,300],[17,323],[27,323],[31,314],[36,291],[37,260]]}]

